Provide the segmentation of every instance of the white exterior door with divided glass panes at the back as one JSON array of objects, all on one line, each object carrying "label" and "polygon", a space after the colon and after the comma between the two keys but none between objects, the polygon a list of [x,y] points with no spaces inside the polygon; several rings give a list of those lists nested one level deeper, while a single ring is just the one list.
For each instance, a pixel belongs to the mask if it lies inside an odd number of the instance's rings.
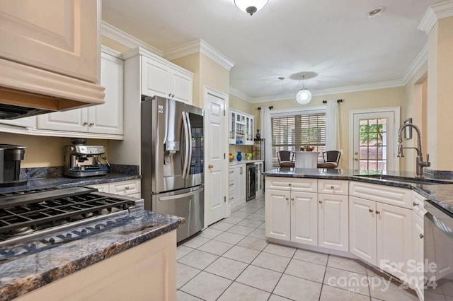
[{"label": "white exterior door with divided glass panes at the back", "polygon": [[399,124],[399,107],[350,111],[350,168],[399,170],[395,124]]}]

